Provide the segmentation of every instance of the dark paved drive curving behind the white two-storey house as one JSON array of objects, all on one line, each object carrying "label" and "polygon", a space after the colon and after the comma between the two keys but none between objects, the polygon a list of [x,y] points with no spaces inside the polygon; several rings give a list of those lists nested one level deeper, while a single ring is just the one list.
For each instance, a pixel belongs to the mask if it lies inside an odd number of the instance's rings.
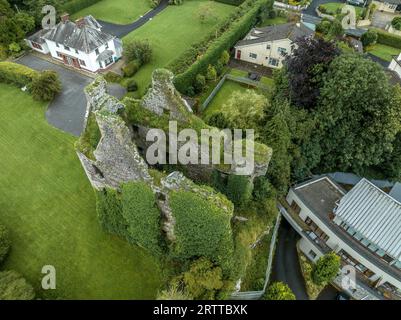
[{"label": "dark paved drive curving behind the white two-storey house", "polygon": [[115,23],[110,23],[102,20],[98,20],[98,22],[102,25],[102,30],[104,32],[110,33],[112,35],[115,35],[118,38],[122,38],[126,36],[128,33],[138,29],[139,27],[143,26],[146,22],[148,22],[150,19],[152,19],[154,16],[162,12],[164,9],[167,8],[168,6],[168,0],[161,0],[159,5],[148,11],[145,15],[140,17],[138,20],[134,21],[133,23],[130,24],[115,24]]}]

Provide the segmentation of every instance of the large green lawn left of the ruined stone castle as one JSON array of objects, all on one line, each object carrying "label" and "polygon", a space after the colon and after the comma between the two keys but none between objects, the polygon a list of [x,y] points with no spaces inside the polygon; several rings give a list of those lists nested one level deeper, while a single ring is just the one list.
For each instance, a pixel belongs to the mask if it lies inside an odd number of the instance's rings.
[{"label": "large green lawn left of the ruined stone castle", "polygon": [[[24,274],[43,298],[154,298],[158,262],[101,230],[75,138],[46,122],[45,107],[0,84],[0,223],[13,242],[3,268]],[[40,289],[44,265],[56,267],[56,290]]]}]

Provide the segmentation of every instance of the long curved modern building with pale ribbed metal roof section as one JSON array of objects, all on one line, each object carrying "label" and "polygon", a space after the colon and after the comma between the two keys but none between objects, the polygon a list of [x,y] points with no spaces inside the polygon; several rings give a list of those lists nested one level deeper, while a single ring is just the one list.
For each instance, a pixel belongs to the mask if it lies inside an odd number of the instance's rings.
[{"label": "long curved modern building with pale ribbed metal roof section", "polygon": [[366,179],[346,192],[322,176],[292,187],[279,207],[311,261],[335,251],[354,268],[351,296],[401,299],[401,203],[392,195]]}]

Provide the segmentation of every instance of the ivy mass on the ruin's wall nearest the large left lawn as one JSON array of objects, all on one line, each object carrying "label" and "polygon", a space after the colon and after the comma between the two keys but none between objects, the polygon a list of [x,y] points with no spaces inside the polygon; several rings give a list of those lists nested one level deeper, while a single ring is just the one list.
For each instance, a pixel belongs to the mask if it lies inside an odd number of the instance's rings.
[{"label": "ivy mass on the ruin's wall nearest the large left lawn", "polygon": [[121,193],[113,189],[98,192],[97,212],[108,232],[160,253],[160,212],[151,188],[144,182],[125,184]]}]

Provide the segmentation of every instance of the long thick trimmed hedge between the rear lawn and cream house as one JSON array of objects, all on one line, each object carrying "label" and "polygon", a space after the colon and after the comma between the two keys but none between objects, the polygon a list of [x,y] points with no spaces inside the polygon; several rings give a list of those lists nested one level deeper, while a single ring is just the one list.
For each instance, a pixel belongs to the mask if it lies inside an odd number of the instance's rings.
[{"label": "long thick trimmed hedge between the rear lawn and cream house", "polygon": [[201,58],[195,61],[185,72],[176,75],[174,84],[180,92],[188,93],[188,89],[194,87],[196,76],[205,74],[209,65],[216,64],[225,50],[229,50],[248,33],[249,29],[255,25],[264,2],[247,3],[247,5],[251,5],[250,10],[240,19],[234,21],[226,32],[213,41]]}]

